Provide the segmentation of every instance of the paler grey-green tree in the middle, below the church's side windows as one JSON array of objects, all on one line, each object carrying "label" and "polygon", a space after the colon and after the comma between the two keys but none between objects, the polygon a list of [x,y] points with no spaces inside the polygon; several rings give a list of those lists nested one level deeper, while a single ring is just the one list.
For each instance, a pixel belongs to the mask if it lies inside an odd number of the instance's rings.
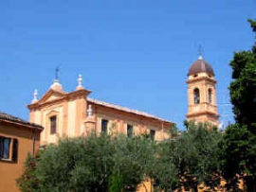
[{"label": "paler grey-green tree in the middle, below the church's side windows", "polygon": [[[114,154],[110,192],[136,191],[137,185],[149,177],[152,167],[154,146],[144,135],[126,137],[120,135],[114,140]],[[146,190],[146,189],[145,189]]]}]

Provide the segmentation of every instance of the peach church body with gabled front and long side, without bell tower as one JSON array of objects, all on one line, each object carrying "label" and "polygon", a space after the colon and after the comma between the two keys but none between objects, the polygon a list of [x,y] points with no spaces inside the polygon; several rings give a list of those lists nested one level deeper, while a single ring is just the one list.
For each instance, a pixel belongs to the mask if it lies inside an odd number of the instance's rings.
[{"label": "peach church body with gabled front and long side, without bell tower", "polygon": [[40,99],[37,91],[30,110],[30,121],[42,125],[41,145],[57,143],[62,137],[86,136],[91,131],[108,134],[149,133],[156,141],[170,137],[174,123],[149,113],[120,107],[115,104],[88,97],[91,92],[78,86],[66,93],[58,79]]}]

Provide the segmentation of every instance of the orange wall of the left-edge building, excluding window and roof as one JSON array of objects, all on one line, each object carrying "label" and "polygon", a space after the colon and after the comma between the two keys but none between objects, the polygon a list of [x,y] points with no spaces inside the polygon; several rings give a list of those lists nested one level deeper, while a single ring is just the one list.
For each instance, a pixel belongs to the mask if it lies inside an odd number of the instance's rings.
[{"label": "orange wall of the left-edge building, excluding window and roof", "polygon": [[[0,160],[0,192],[18,192],[16,179],[23,173],[23,167],[27,153],[32,153],[32,129],[13,126],[11,124],[0,124],[0,135],[18,140],[18,161],[11,163]],[[40,131],[35,134],[35,151],[39,149]]]}]

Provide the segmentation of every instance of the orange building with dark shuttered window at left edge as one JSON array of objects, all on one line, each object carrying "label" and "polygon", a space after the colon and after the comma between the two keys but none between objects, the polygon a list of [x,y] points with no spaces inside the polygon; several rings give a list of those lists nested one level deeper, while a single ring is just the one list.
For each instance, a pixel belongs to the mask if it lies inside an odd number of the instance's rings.
[{"label": "orange building with dark shuttered window at left edge", "polygon": [[42,126],[0,113],[0,192],[18,192],[16,179],[23,172],[27,153],[40,146]]}]

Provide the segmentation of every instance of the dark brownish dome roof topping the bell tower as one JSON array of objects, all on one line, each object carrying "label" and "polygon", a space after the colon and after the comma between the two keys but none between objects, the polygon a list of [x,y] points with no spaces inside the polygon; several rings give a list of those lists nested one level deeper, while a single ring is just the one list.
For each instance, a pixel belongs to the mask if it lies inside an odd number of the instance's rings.
[{"label": "dark brownish dome roof topping the bell tower", "polygon": [[197,73],[202,73],[202,72],[205,72],[214,76],[214,72],[210,64],[207,61],[204,61],[202,56],[199,56],[198,60],[192,63],[188,76],[191,76]]}]

